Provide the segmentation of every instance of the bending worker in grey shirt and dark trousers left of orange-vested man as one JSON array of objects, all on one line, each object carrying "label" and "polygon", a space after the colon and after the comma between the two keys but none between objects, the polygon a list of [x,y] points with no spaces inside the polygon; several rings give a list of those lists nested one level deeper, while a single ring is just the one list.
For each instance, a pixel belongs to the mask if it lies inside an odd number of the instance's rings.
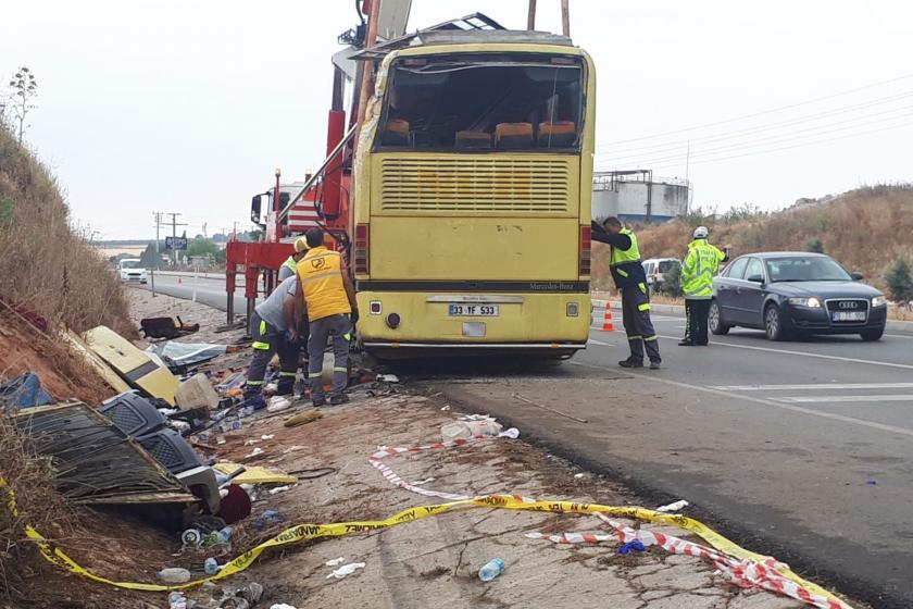
[{"label": "bending worker in grey shirt and dark trousers left of orange-vested man", "polygon": [[277,394],[290,395],[295,389],[298,372],[298,324],[295,319],[295,297],[298,275],[283,281],[266,300],[257,306],[250,319],[253,337],[253,359],[245,384],[245,398],[263,389],[266,366],[275,353],[279,355],[279,383]]}]

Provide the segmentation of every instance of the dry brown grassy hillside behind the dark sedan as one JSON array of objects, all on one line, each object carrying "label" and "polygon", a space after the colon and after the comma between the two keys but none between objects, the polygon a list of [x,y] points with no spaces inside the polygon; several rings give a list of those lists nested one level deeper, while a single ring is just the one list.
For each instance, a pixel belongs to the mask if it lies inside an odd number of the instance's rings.
[{"label": "dry brown grassy hillside behind the dark sedan", "polygon": [[[711,243],[731,246],[739,256],[752,251],[806,250],[820,239],[824,252],[847,269],[884,287],[885,268],[900,256],[913,262],[913,184],[850,190],[822,202],[803,200],[772,213],[729,212],[723,217],[693,213],[666,224],[636,227],[641,256],[683,258],[691,231],[710,228]],[[595,244],[593,285],[611,287],[608,250]]]}]

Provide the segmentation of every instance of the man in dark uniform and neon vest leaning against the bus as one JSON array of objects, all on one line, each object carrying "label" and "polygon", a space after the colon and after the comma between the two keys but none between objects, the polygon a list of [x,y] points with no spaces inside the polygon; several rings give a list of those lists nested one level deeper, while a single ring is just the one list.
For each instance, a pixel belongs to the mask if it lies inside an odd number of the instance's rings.
[{"label": "man in dark uniform and neon vest leaning against the bus", "polygon": [[592,223],[592,239],[612,246],[609,269],[615,287],[622,290],[622,321],[630,347],[630,357],[618,362],[622,368],[643,368],[643,350],[650,358],[650,369],[659,370],[662,359],[656,333],[650,321],[650,294],[647,274],[640,263],[637,235],[624,228],[615,216],[602,224]]}]

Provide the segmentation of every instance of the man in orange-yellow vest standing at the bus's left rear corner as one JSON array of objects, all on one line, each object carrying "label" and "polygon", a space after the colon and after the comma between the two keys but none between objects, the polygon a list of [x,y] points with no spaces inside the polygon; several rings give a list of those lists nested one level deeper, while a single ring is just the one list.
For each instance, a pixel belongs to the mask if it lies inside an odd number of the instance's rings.
[{"label": "man in orange-yellow vest standing at the bus's left rear corner", "polygon": [[304,237],[308,253],[298,262],[298,281],[311,323],[308,338],[308,380],[311,383],[311,401],[314,406],[326,403],[321,376],[327,339],[333,341],[333,388],[329,403],[349,401],[342,391],[348,384],[349,339],[358,322],[359,310],[355,289],[342,263],[342,256],[324,247],[324,232],[311,228]]}]

